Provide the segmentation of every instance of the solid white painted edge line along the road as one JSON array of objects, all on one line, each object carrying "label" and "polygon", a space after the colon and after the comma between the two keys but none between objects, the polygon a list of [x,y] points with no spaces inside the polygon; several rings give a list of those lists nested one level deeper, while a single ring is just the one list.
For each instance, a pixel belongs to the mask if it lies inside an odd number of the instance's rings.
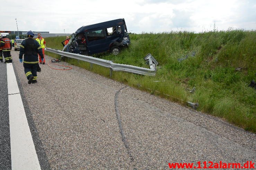
[{"label": "solid white painted edge line along the road", "polygon": [[[11,63],[7,64],[12,170],[41,170]],[[16,93],[16,94],[14,94]]]}]

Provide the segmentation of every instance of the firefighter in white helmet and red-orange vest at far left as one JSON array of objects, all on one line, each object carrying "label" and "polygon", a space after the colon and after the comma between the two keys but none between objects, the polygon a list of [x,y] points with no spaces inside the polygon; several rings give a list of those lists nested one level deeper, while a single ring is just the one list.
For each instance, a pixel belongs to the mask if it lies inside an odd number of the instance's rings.
[{"label": "firefighter in white helmet and red-orange vest at far left", "polygon": [[6,34],[2,34],[2,39],[0,41],[0,47],[2,47],[3,57],[5,57],[5,63],[12,62],[11,58],[11,41],[6,38]]}]

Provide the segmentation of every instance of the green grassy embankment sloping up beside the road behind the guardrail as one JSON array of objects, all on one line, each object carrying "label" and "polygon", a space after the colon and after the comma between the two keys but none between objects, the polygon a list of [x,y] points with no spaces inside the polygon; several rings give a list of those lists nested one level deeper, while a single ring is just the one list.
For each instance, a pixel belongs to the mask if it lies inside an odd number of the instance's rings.
[{"label": "green grassy embankment sloping up beside the road behind the guardrail", "polygon": [[[198,111],[256,132],[256,90],[248,87],[256,79],[256,31],[142,33],[130,38],[131,46],[118,56],[94,57],[149,68],[143,57],[151,53],[160,68],[155,77],[113,72],[113,79],[181,104],[198,102]],[[45,39],[47,47],[62,49],[65,37]],[[90,70],[89,63],[68,62]],[[235,71],[237,67],[242,71]],[[94,66],[92,71],[109,77],[109,69]],[[185,90],[193,87],[193,94]]]}]

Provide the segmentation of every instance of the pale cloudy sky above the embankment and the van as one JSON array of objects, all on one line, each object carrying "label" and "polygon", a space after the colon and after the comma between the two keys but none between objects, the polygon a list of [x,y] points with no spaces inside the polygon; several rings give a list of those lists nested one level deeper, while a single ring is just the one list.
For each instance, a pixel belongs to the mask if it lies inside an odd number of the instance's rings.
[{"label": "pale cloudy sky above the embankment and the van", "polygon": [[[3,1],[3,0],[1,0]],[[73,33],[124,18],[129,32],[256,29],[256,0],[5,0],[0,31]],[[215,27],[214,27],[215,25]]]}]

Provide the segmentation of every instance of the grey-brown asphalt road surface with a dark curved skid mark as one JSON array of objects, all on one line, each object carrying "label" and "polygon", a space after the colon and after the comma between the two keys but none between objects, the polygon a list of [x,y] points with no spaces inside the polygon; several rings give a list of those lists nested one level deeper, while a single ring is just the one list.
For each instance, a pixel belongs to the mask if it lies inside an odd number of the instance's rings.
[{"label": "grey-brown asphalt road surface with a dark curved skid mark", "polygon": [[[71,66],[13,67],[41,169],[169,169],[168,163],[256,162],[256,134]],[[48,63],[52,58],[46,56]],[[52,66],[59,68],[58,66]],[[11,169],[6,64],[0,63],[0,170]],[[256,166],[255,166],[256,167]]]}]

